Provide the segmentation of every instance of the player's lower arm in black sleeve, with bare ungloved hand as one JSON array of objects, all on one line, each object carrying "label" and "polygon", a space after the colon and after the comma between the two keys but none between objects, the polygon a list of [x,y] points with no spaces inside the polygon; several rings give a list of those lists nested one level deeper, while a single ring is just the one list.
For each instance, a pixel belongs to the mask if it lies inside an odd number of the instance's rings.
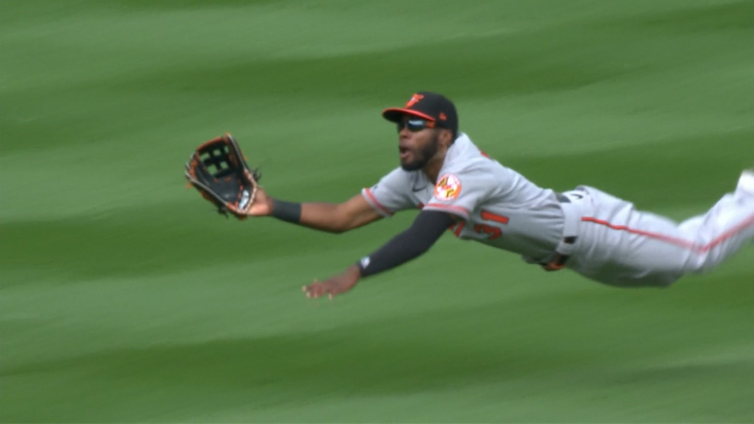
[{"label": "player's lower arm in black sleeve, with bare ungloved hand", "polygon": [[333,296],[351,290],[360,278],[387,271],[429,250],[443,233],[455,223],[455,217],[438,210],[425,210],[411,227],[396,235],[368,257],[349,266],[344,272],[325,281],[314,281],[302,287],[307,297]]}]

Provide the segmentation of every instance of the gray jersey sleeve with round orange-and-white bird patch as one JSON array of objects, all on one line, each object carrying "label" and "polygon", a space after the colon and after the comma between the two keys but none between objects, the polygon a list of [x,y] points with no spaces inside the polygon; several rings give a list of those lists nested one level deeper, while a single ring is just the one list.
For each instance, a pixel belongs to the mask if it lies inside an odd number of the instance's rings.
[{"label": "gray jersey sleeve with round orange-and-white bird patch", "polygon": [[494,191],[495,179],[484,167],[443,170],[425,210],[442,210],[468,220],[479,204]]}]

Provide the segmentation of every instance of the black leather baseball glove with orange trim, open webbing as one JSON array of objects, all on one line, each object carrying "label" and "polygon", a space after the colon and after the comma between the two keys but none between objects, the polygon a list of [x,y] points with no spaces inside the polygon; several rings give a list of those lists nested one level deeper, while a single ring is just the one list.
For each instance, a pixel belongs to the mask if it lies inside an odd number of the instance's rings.
[{"label": "black leather baseball glove with orange trim, open webbing", "polygon": [[185,177],[219,214],[247,217],[256,196],[259,170],[250,169],[247,159],[231,134],[202,143],[186,162]]}]

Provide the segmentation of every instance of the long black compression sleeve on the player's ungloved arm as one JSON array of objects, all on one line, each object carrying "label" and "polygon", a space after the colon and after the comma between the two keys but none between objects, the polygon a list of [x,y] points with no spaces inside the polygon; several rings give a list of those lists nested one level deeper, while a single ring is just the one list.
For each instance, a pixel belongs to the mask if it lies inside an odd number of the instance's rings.
[{"label": "long black compression sleeve on the player's ungloved arm", "polygon": [[421,212],[409,229],[357,263],[361,276],[386,271],[425,253],[454,222],[452,215],[446,212]]}]

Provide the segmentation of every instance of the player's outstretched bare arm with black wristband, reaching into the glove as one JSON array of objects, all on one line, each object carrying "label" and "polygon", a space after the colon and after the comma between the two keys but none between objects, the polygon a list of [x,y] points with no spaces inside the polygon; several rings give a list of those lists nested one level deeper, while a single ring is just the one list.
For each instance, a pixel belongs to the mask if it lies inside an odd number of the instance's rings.
[{"label": "player's outstretched bare arm with black wristband, reaching into the glove", "polygon": [[271,198],[261,188],[256,193],[249,215],[275,217],[311,229],[335,233],[346,232],[382,218],[360,194],[342,203],[294,203]]}]

